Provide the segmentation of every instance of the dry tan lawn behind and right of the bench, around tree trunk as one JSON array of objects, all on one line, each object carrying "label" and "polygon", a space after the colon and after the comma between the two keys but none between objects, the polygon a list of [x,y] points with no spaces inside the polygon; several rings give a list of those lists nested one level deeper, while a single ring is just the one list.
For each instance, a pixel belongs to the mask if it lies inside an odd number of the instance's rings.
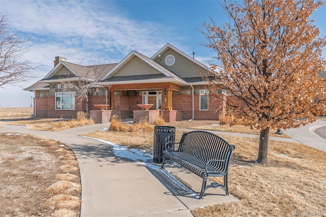
[{"label": "dry tan lawn behind and right of the bench, around tree trunk", "polygon": [[[176,141],[181,135],[176,130]],[[99,131],[88,136],[153,150],[153,132]],[[228,184],[240,201],[197,208],[192,210],[195,216],[291,216],[295,210],[326,213],[325,152],[303,144],[269,141],[268,166],[261,166],[254,164],[258,139],[222,137],[235,145]]]}]

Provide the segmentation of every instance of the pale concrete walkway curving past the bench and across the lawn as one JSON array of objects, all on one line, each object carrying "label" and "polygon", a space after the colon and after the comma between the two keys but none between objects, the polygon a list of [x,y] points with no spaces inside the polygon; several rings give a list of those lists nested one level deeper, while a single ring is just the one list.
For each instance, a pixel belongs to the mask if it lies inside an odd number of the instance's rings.
[{"label": "pale concrete walkway curving past the bench and across the lawn", "polygon": [[[159,165],[140,164],[123,156],[116,156],[113,146],[107,143],[80,137],[80,134],[107,128],[106,124],[49,132],[29,130],[26,126],[2,125],[0,132],[31,133],[39,137],[60,141],[75,153],[82,179],[82,208],[80,216],[193,216],[190,209],[212,204],[237,201],[233,196],[223,196],[212,189],[204,200],[198,200],[194,192],[187,192],[171,182],[169,172],[162,172]],[[298,129],[285,130],[293,139],[269,137],[270,140],[298,142],[326,151],[326,140],[314,133],[314,128],[326,126],[320,121]],[[189,130],[181,129],[178,130]],[[210,130],[208,130],[210,131]],[[220,135],[259,138],[259,135],[212,131]],[[170,170],[170,168],[169,168]],[[200,192],[201,179],[182,169],[171,168],[179,178],[184,178]]]}]

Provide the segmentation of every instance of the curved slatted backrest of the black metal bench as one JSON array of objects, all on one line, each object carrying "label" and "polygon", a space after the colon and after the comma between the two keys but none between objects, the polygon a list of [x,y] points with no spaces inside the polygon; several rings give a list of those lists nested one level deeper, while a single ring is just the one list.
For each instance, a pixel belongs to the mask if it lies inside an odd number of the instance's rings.
[{"label": "curved slatted backrest of the black metal bench", "polygon": [[201,162],[206,162],[208,159],[227,159],[225,162],[214,161],[211,163],[213,168],[219,170],[227,170],[233,150],[234,146],[218,135],[202,130],[183,133],[179,146],[179,151]]}]

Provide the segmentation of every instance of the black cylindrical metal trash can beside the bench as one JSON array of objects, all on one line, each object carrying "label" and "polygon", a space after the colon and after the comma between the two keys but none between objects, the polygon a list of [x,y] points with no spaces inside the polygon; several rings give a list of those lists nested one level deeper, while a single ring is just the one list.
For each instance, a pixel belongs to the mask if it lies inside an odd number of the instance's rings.
[{"label": "black cylindrical metal trash can beside the bench", "polygon": [[[153,161],[161,164],[163,161],[163,151],[165,145],[169,142],[175,142],[175,127],[171,126],[155,126],[154,127],[154,147]],[[174,144],[170,144],[168,148]]]}]

